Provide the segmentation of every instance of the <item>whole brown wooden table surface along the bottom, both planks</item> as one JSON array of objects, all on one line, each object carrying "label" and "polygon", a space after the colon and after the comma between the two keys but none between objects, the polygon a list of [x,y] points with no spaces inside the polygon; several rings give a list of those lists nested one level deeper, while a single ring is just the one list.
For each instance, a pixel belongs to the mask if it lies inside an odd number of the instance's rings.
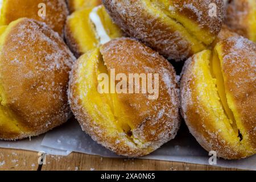
[{"label": "whole brown wooden table surface along the bottom, both planks", "polygon": [[68,156],[46,156],[46,164],[38,164],[38,152],[0,148],[0,171],[2,170],[238,170],[199,164],[164,162],[144,159],[110,159],[100,156],[72,153]]}]

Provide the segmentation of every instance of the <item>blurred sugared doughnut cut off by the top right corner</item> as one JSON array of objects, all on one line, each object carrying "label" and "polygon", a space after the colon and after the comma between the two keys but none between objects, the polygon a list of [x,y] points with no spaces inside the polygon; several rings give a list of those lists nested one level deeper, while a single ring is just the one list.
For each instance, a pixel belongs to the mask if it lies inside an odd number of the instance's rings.
[{"label": "blurred sugared doughnut cut off by the top right corner", "polygon": [[256,1],[231,1],[226,10],[225,23],[237,34],[256,42]]}]

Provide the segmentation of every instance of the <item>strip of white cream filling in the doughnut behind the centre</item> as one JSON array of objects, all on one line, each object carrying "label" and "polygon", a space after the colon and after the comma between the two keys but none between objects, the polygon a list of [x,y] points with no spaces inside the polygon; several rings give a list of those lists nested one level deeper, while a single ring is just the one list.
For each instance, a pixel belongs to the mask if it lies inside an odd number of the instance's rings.
[{"label": "strip of white cream filling in the doughnut behind the centre", "polygon": [[98,39],[100,39],[100,44],[105,44],[105,43],[109,42],[111,39],[110,39],[109,35],[107,34],[107,32],[101,22],[100,16],[97,14],[97,11],[100,7],[101,6],[94,7],[94,9],[90,13],[89,17],[90,17],[90,20],[92,20],[93,24],[96,27],[96,34],[98,36]]}]

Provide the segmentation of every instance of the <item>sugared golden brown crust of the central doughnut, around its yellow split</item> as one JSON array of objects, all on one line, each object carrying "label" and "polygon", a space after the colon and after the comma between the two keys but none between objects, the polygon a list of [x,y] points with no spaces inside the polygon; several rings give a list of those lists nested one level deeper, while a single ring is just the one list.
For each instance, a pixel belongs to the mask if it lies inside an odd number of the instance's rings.
[{"label": "sugared golden brown crust of the central doughnut, around its yellow split", "polygon": [[[136,50],[136,51],[135,51]],[[114,54],[113,54],[114,51]],[[120,38],[104,44],[102,58],[108,70],[115,73],[159,73],[159,98],[148,100],[148,94],[118,94],[118,100],[134,126],[133,138],[113,131],[112,135],[95,121],[82,106],[79,72],[84,60],[77,60],[69,81],[69,102],[77,120],[86,133],[118,155],[143,156],[175,137],[180,125],[178,88],[174,68],[158,53],[142,43]],[[143,143],[137,146],[134,139]]]}]

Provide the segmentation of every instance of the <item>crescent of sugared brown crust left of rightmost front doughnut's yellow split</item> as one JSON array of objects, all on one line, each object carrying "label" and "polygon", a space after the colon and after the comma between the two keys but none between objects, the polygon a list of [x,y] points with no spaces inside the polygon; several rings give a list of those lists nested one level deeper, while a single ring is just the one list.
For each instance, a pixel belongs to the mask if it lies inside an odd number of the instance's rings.
[{"label": "crescent of sugared brown crust left of rightmost front doughnut's yellow split", "polygon": [[228,158],[242,158],[233,146],[222,139],[218,132],[210,125],[213,122],[206,108],[197,100],[195,92],[196,76],[193,74],[196,57],[189,58],[185,63],[183,77],[181,79],[181,114],[189,131],[197,142],[207,151],[216,151],[218,156]]}]

